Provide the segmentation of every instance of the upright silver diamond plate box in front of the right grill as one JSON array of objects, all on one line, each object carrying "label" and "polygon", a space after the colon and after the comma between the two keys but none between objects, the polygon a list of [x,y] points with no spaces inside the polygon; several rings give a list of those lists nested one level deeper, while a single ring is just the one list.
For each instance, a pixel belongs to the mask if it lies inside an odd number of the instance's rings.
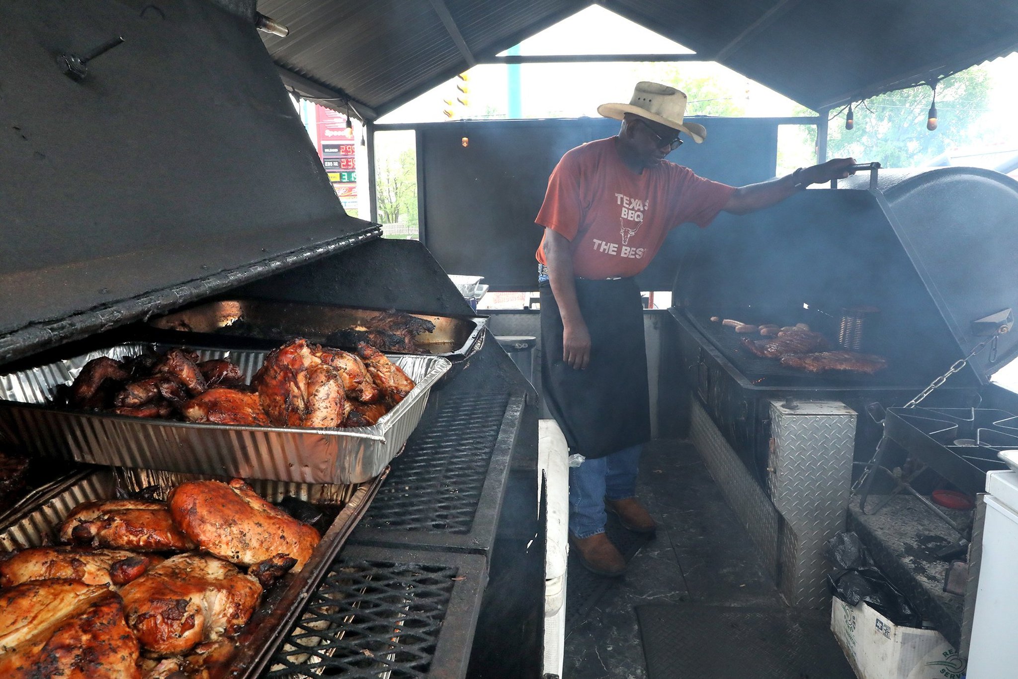
[{"label": "upright silver diamond plate box in front of the right grill", "polygon": [[854,410],[837,401],[771,402],[768,488],[794,534],[782,551],[779,585],[794,606],[828,601],[824,545],[845,527],[855,448]]}]

